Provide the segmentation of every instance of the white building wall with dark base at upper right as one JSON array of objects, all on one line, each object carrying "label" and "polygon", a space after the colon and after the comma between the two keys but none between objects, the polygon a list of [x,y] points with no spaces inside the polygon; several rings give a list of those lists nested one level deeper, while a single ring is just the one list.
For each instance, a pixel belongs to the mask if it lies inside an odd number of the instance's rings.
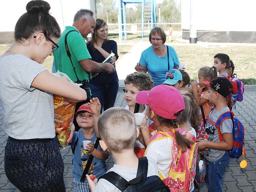
[{"label": "white building wall with dark base at upper right", "polygon": [[[256,43],[255,0],[194,0],[197,40]],[[190,0],[181,0],[181,28],[190,28]],[[212,31],[212,32],[209,32]],[[189,39],[189,32],[182,37]]]}]

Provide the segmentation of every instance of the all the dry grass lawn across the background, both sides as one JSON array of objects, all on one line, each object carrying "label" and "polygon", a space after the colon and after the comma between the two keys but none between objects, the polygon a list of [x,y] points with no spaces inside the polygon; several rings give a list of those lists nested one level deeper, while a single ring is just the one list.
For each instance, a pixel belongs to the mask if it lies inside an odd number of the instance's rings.
[{"label": "all the dry grass lawn across the background, both sides", "polygon": [[[123,40],[117,45],[120,60],[130,51],[134,43],[141,41],[139,34],[128,34],[127,40]],[[213,56],[217,53],[226,53],[235,64],[234,73],[244,84],[256,84],[256,46],[247,45],[227,45],[227,46],[200,46],[200,45],[177,45],[181,43],[173,36],[172,47],[178,54],[179,60],[186,64],[186,71],[191,80],[197,79],[197,72],[200,67],[213,65]],[[109,34],[109,39],[119,42],[118,34]],[[168,39],[168,36],[167,36]],[[145,39],[144,41],[148,41]],[[185,43],[184,43],[185,44]],[[10,45],[0,45],[0,55],[3,54]],[[117,62],[118,62],[117,60]],[[42,64],[49,71],[52,71],[53,57],[47,57]]]}]

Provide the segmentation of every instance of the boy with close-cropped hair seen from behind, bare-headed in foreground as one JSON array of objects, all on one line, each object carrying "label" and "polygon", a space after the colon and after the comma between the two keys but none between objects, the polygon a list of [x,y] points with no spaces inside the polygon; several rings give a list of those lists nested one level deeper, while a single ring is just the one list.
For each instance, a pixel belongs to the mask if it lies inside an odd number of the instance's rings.
[{"label": "boy with close-cropped hair seen from behind, bare-headed in foreground", "polygon": [[[101,149],[109,149],[116,160],[116,164],[108,172],[116,172],[127,181],[136,178],[139,160],[134,153],[133,147],[139,135],[139,129],[136,128],[132,113],[121,107],[107,109],[100,115],[98,132],[101,138]],[[158,176],[158,167],[152,158],[148,158],[147,176],[152,175]],[[86,175],[86,178],[93,192],[120,191],[105,179],[100,179],[96,185],[89,175]]]}]

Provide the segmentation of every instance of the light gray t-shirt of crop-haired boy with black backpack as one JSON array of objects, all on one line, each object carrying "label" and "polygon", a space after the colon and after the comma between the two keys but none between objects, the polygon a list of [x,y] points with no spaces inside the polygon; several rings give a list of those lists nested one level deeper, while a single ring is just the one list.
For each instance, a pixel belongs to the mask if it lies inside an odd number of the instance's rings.
[{"label": "light gray t-shirt of crop-haired boy with black backpack", "polygon": [[[158,168],[156,165],[156,162],[150,158],[148,158],[148,177],[152,175],[157,175],[158,176]],[[108,170],[108,172],[116,172],[117,174],[121,175],[125,180],[130,181],[136,177],[137,174],[137,168],[131,168],[131,167],[124,167],[124,166],[119,166],[114,164],[114,166]],[[105,179],[100,179],[94,189],[93,192],[120,192],[116,186],[114,186],[112,183],[108,182]]]}]

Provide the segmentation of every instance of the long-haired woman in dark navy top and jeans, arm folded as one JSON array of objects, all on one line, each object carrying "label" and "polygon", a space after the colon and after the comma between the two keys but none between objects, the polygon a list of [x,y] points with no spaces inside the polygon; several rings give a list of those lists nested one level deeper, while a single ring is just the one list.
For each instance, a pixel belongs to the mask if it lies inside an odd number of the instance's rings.
[{"label": "long-haired woman in dark navy top and jeans, arm folded", "polygon": [[[117,44],[113,40],[108,40],[107,23],[102,19],[97,19],[93,31],[92,38],[87,43],[87,49],[92,56],[92,60],[101,63],[113,52],[115,56],[110,63],[114,65],[118,59]],[[97,76],[92,77],[90,88],[92,96],[98,97],[100,100],[100,113],[102,113],[102,109],[105,111],[108,108],[114,107],[118,91],[116,71],[111,74],[108,74],[106,71],[99,72]]]}]

